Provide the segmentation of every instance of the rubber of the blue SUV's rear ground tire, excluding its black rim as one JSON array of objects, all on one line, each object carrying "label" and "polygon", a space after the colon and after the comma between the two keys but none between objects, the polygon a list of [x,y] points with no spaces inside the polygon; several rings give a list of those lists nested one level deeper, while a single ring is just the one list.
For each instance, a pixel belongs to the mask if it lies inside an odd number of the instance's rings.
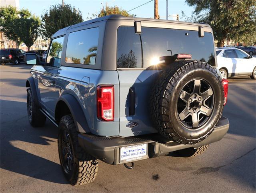
[{"label": "rubber of the blue SUV's rear ground tire, excluding its black rim", "polygon": [[[71,148],[74,156],[74,164],[72,165],[70,172],[65,170],[62,156],[62,135],[64,134],[64,130],[66,130],[70,137],[69,139],[71,141]],[[88,154],[78,144],[78,132],[70,114],[63,116],[60,120],[58,152],[62,171],[71,185],[83,185],[94,181],[98,172],[98,159]]]}]

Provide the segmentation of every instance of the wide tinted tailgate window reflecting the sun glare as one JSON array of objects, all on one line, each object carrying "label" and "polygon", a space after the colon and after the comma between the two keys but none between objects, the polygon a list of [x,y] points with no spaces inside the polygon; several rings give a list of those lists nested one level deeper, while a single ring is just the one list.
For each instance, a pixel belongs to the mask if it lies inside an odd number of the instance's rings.
[{"label": "wide tinted tailgate window reflecting the sun glare", "polygon": [[159,57],[188,53],[192,59],[215,66],[212,33],[142,27],[136,34],[132,26],[120,26],[117,32],[117,67],[147,68],[159,63]]}]

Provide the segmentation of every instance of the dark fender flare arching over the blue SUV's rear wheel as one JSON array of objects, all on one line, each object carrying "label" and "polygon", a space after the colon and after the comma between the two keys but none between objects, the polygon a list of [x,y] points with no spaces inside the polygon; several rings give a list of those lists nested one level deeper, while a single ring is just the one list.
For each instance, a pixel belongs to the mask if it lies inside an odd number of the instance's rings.
[{"label": "dark fender flare arching over the blue SUV's rear wheel", "polygon": [[90,133],[90,129],[88,127],[86,117],[84,116],[84,112],[83,112],[79,102],[73,95],[64,94],[58,99],[58,101],[56,102],[56,106],[55,106],[55,120],[57,118],[56,107],[57,107],[59,101],[65,102],[65,104],[68,106],[68,108],[71,112],[71,115],[74,119],[74,124],[76,125],[77,131],[80,133]]}]

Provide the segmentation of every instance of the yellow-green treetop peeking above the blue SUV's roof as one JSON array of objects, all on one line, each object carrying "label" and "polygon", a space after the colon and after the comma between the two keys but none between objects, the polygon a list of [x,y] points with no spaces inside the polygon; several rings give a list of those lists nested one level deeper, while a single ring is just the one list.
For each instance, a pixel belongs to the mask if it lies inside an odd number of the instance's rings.
[{"label": "yellow-green treetop peeking above the blue SUV's roof", "polygon": [[119,8],[118,6],[113,7],[102,7],[99,13],[92,14],[92,16],[88,16],[87,19],[99,18],[108,15],[122,15],[125,17],[134,17],[133,14],[129,14],[126,10]]}]

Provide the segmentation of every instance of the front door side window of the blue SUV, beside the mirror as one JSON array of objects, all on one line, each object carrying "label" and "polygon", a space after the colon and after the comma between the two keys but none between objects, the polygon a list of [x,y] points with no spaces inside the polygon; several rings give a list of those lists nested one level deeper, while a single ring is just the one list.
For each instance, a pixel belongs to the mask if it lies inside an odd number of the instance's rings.
[{"label": "front door side window of the blue SUV, beside the mirror", "polygon": [[46,59],[47,66],[60,67],[63,41],[64,36],[52,39],[52,43],[50,45],[49,53]]}]

